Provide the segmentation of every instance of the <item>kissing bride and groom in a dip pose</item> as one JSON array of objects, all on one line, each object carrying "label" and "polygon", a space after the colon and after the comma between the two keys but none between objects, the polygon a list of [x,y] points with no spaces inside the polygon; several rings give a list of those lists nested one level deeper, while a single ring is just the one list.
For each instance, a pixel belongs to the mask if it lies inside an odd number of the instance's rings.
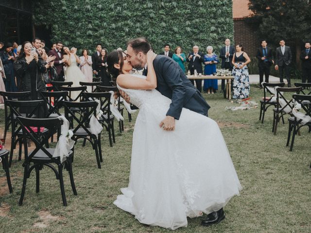
[{"label": "kissing bride and groom in a dip pose", "polygon": [[[156,55],[146,38],[113,51],[108,70],[127,102],[139,108],[128,187],[114,204],[139,222],[175,230],[187,217],[209,226],[242,186],[209,105],[171,58]],[[144,68],[143,75],[130,74]]]}]

